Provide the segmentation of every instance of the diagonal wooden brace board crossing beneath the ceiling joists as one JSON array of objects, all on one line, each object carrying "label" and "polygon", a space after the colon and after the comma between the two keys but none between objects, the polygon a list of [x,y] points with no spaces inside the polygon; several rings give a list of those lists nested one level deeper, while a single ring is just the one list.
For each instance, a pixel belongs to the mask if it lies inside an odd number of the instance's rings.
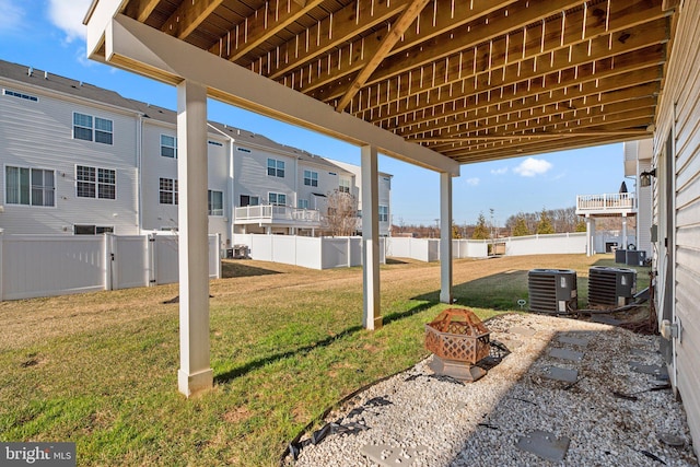
[{"label": "diagonal wooden brace board crossing beneath the ceiling joists", "polygon": [[350,84],[350,87],[342,96],[342,98],[336,105],[337,112],[342,112],[352,97],[360,91],[364,83],[368,81],[370,75],[376,70],[376,68],[382,63],[384,58],[388,55],[389,51],[394,48],[396,43],[401,38],[408,26],[416,20],[416,16],[420,14],[425,4],[430,0],[413,0],[408,8],[401,13],[401,15],[392,24],[388,34],[384,36],[380,46],[374,51],[373,56],[370,57],[362,67],[362,70],[354,77],[354,80]]}]

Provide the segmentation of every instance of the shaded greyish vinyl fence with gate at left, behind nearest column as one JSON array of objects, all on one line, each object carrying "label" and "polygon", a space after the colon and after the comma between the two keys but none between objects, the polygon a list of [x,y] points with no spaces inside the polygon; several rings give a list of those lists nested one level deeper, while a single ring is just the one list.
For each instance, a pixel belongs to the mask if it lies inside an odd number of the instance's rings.
[{"label": "shaded greyish vinyl fence with gate at left, behind nearest column", "polygon": [[[173,283],[177,235],[5,235],[0,301]],[[220,241],[209,235],[209,277],[221,277]]]}]

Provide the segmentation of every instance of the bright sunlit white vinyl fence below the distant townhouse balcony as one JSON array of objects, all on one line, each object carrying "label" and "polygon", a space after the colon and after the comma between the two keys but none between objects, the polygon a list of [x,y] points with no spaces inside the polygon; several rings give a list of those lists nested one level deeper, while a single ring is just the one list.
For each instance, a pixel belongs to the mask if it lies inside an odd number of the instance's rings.
[{"label": "bright sunlit white vinyl fence below the distant townhouse balcony", "polygon": [[[380,238],[380,262],[386,262],[385,238]],[[234,234],[235,245],[247,245],[250,258],[310,269],[362,265],[361,237]]]}]

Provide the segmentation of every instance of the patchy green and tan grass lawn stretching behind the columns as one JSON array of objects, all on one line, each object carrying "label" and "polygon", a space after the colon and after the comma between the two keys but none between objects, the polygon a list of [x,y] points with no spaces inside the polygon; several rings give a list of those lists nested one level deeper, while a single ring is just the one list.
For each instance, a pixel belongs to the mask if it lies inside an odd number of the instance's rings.
[{"label": "patchy green and tan grass lawn stretching behind the columns", "polygon": [[[610,255],[456,260],[457,304],[516,311],[527,270]],[[639,268],[639,289],[649,282]],[[384,327],[361,328],[362,271],[226,261],[211,282],[214,388],[177,392],[176,285],[0,303],[0,440],[74,441],[79,465],[278,465],[307,423],[359,387],[422,359],[438,264],[382,267]],[[583,291],[585,292],[585,291]]]}]

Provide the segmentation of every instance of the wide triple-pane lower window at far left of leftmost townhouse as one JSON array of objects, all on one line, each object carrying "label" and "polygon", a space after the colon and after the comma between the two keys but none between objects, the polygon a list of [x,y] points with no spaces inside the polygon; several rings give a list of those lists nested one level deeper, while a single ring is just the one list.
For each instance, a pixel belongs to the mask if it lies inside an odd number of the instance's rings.
[{"label": "wide triple-pane lower window at far left of leftmost townhouse", "polygon": [[55,206],[54,171],[5,167],[5,202],[8,205]]}]

